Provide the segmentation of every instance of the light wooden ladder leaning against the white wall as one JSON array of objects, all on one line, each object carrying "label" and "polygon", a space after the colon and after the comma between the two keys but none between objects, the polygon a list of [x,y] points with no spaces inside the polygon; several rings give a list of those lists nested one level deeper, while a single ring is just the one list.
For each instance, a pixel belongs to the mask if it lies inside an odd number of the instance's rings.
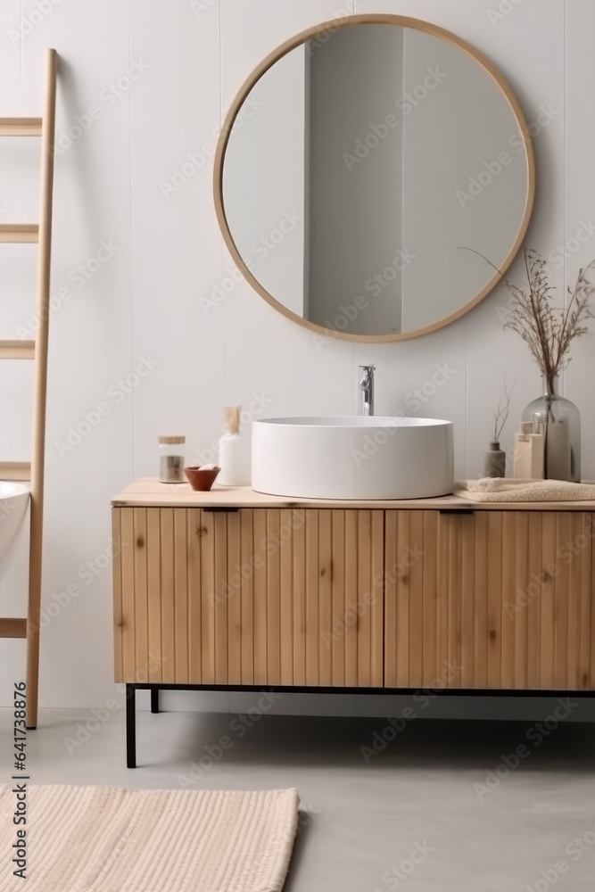
[{"label": "light wooden ladder leaning against the white wall", "polygon": [[47,340],[50,310],[52,196],[54,192],[54,133],[58,55],[45,53],[42,118],[0,118],[0,136],[41,136],[39,223],[0,225],[0,242],[37,242],[37,335],[34,341],[0,341],[0,359],[33,359],[35,409],[30,462],[0,461],[0,479],[30,480],[29,602],[23,619],[0,619],[0,638],[27,639],[27,727],[37,726],[39,686],[39,621],[41,560],[44,527],[45,406]]}]

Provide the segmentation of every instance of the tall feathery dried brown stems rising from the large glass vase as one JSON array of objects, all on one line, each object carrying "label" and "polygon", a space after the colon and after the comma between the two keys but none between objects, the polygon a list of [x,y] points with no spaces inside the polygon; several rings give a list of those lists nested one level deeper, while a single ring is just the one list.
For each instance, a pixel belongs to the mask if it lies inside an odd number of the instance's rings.
[{"label": "tall feathery dried brown stems rising from the large glass vase", "polygon": [[553,393],[556,377],[570,362],[568,354],[573,341],[589,331],[589,321],[593,318],[595,260],[579,271],[574,290],[568,288],[570,300],[566,307],[554,306],[554,288],[550,285],[546,261],[539,253],[525,249],[525,268],[525,289],[507,279],[511,301],[504,328],[523,338],[541,368],[548,391]]}]

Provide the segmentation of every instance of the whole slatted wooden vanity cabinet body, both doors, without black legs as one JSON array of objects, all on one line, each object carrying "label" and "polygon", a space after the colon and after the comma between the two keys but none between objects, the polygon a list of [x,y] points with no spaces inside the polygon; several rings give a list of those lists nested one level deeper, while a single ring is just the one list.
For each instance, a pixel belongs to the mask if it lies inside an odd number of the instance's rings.
[{"label": "whole slatted wooden vanity cabinet body, both doors, without black legs", "polygon": [[591,511],[212,495],[114,500],[117,681],[595,689]]}]

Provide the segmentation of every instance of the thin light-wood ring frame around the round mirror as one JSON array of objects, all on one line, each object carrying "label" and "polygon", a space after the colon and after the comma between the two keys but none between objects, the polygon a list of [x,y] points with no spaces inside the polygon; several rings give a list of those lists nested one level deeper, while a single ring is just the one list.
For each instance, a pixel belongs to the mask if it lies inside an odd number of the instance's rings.
[{"label": "thin light-wood ring frame around the round mirror", "polygon": [[[500,265],[500,270],[494,272],[487,285],[485,285],[479,293],[475,294],[475,297],[471,301],[468,301],[456,312],[450,313],[450,316],[446,316],[440,321],[434,322],[432,325],[424,326],[422,328],[416,328],[410,332],[401,332],[398,335],[350,334],[349,332],[340,331],[335,328],[325,328],[324,326],[319,326],[315,322],[310,322],[310,319],[305,319],[302,318],[302,316],[298,316],[298,314],[294,313],[293,310],[288,310],[283,303],[277,301],[277,299],[273,297],[273,295],[270,294],[263,285],[260,284],[258,279],[252,275],[252,272],[244,262],[244,258],[237,249],[234,237],[233,235],[231,235],[223,200],[223,165],[225,163],[229,137],[231,136],[236,117],[241,110],[244,101],[246,100],[248,95],[250,95],[253,87],[256,86],[260,78],[269,70],[269,68],[272,68],[272,66],[282,56],[289,53],[297,46],[302,45],[306,41],[324,37],[325,35],[332,34],[342,28],[351,28],[356,25],[363,24],[401,25],[401,27],[403,28],[412,28],[425,31],[426,34],[431,34],[434,37],[440,37],[442,40],[446,40],[451,44],[458,46],[459,49],[470,55],[475,60],[475,62],[481,65],[483,69],[491,75],[492,80],[494,81],[496,86],[500,88],[500,91],[504,95],[511,111],[513,112],[517,126],[525,144],[525,165],[527,172],[525,211],[523,213],[521,224],[516,233],[516,239],[512,244],[510,251],[508,252],[503,263]],[[217,212],[219,227],[227,244],[227,248],[232,258],[236,262],[237,268],[240,270],[248,284],[252,285],[254,291],[256,293],[259,293],[260,297],[263,297],[265,301],[267,301],[271,305],[271,307],[274,307],[275,310],[283,313],[286,318],[293,319],[294,322],[297,322],[301,326],[305,326],[306,328],[310,328],[310,331],[316,332],[318,335],[324,337],[340,338],[343,341],[355,341],[359,343],[386,343],[389,341],[405,341],[409,338],[419,337],[420,335],[427,335],[429,332],[434,332],[438,328],[448,326],[451,322],[454,322],[455,319],[464,316],[469,310],[472,310],[480,301],[483,301],[483,298],[487,294],[489,294],[494,286],[501,281],[508,267],[515,259],[516,254],[518,253],[521,245],[523,244],[523,240],[525,239],[526,231],[529,226],[529,221],[531,219],[531,214],[533,211],[533,202],[535,198],[535,158],[533,153],[532,138],[527,126],[527,122],[525,120],[525,115],[523,114],[523,111],[521,110],[521,107],[516,100],[516,96],[512,92],[511,88],[508,86],[506,79],[500,74],[500,71],[495,68],[495,66],[486,56],[476,50],[475,47],[468,44],[467,41],[461,39],[456,34],[452,34],[451,31],[440,28],[438,25],[434,25],[429,21],[424,21],[422,19],[413,19],[409,16],[388,14],[346,16],[341,20],[335,19],[331,21],[325,21],[320,25],[314,26],[313,28],[301,31],[299,34],[291,37],[289,40],[286,40],[285,43],[278,46],[276,50],[273,50],[272,53],[269,53],[269,55],[266,56],[266,58],[263,59],[263,61],[260,62],[260,64],[252,71],[250,77],[244,81],[244,84],[242,87],[240,87],[240,90],[237,93],[233,103],[231,103],[231,107],[227,112],[225,122],[219,133],[217,151],[215,153],[213,197],[215,201],[215,210]]]}]

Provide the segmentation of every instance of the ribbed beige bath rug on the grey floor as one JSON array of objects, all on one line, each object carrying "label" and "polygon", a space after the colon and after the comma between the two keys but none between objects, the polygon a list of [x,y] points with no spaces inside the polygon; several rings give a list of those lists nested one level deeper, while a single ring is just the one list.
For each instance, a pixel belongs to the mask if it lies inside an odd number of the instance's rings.
[{"label": "ribbed beige bath rug on the grey floor", "polygon": [[0,889],[278,892],[298,804],[295,789],[29,787],[23,882],[17,793],[0,786]]}]

